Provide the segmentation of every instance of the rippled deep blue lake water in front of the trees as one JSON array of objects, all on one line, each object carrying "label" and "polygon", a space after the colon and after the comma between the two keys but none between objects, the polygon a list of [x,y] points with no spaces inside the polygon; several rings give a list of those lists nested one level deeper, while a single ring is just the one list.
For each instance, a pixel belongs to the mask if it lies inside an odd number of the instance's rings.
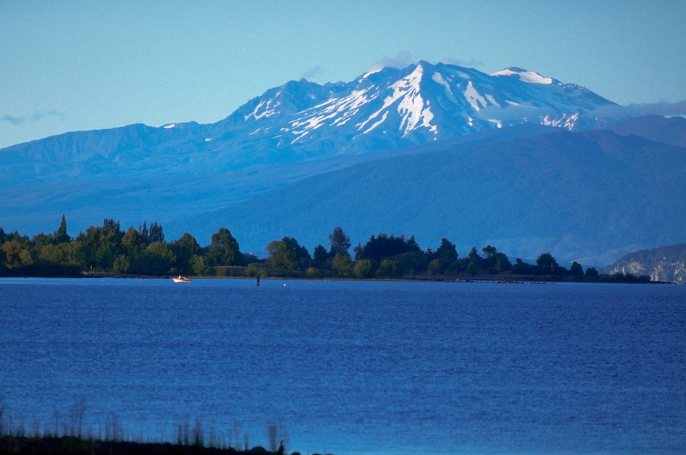
[{"label": "rippled deep blue lake water in front of the trees", "polygon": [[686,286],[1,279],[4,422],[304,454],[686,453]]}]

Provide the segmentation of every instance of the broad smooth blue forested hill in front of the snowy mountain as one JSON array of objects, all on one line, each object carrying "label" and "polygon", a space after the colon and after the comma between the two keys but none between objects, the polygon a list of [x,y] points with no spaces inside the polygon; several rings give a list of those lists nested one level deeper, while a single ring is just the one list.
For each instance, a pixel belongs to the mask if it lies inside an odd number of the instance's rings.
[{"label": "broad smooth blue forested hill in front of the snowy mountain", "polygon": [[360,163],[172,224],[203,238],[231,226],[248,250],[288,235],[311,251],[341,225],[353,243],[386,232],[436,248],[446,236],[461,254],[490,243],[564,266],[685,239],[686,149],[554,131]]}]

